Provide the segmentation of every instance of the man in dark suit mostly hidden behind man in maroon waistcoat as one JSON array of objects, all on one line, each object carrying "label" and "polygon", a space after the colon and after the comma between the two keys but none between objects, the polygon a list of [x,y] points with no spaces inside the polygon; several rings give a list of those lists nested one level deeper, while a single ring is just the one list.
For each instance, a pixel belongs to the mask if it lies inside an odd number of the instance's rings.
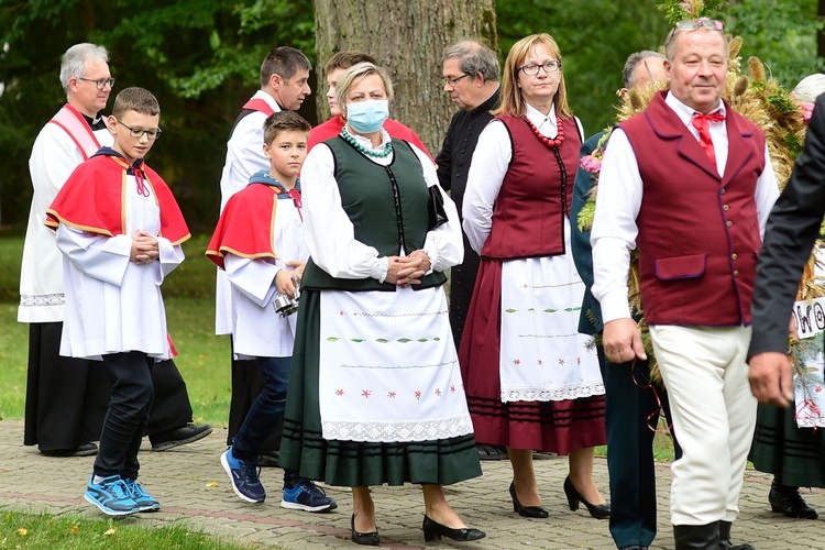
[{"label": "man in dark suit mostly hidden behind man in maroon waistcoat", "polygon": [[[619,97],[626,100],[630,88],[664,81],[664,56],[656,52],[631,54],[622,73]],[[581,156],[591,155],[606,131],[588,139]],[[580,167],[575,174],[571,221],[573,261],[585,284],[579,331],[597,334],[604,329],[602,308],[591,293],[593,285],[593,256],[590,231],[579,229],[579,213],[587,202],[596,184],[592,173]],[[653,429],[659,421],[659,408],[668,410],[668,396],[658,394],[650,385],[650,366],[647,360],[635,363],[610,364],[602,345],[596,348],[602,378],[605,385],[605,428],[607,430],[607,469],[610,476],[610,535],[616,547],[639,550],[650,546],[656,537],[656,470],[653,466]],[[674,440],[676,458],[681,450]]]}]

